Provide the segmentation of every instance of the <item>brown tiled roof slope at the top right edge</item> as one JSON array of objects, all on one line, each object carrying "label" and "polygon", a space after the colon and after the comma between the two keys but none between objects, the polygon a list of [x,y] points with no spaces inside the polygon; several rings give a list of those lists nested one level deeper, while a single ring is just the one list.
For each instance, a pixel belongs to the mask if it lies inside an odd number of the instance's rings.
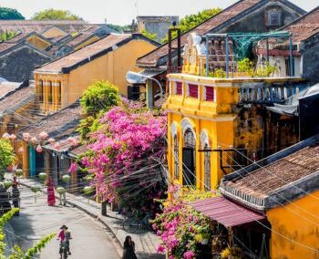
[{"label": "brown tiled roof slope at the top right edge", "polygon": [[293,44],[299,44],[305,39],[319,33],[319,6],[314,10],[284,27],[293,34]]}]

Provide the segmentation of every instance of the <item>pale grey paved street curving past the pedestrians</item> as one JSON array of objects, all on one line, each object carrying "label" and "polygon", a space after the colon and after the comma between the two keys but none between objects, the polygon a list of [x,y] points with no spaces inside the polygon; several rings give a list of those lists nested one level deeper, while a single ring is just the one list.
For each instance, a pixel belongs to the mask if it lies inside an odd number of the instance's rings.
[{"label": "pale grey paved street curving past the pedestrians", "polygon": [[[33,192],[21,188],[21,212],[11,220],[15,231],[15,243],[27,249],[48,233],[57,233],[62,224],[66,224],[73,236],[70,259],[117,259],[120,258],[120,246],[111,233],[84,212],[70,207],[48,207],[46,196],[37,194],[35,203]],[[52,240],[37,258],[59,258],[58,242]]]}]

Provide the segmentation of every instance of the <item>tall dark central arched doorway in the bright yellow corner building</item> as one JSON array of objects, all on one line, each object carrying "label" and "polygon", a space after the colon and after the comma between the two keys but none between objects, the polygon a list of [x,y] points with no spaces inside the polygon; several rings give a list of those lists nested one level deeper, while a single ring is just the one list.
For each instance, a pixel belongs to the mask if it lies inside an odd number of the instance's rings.
[{"label": "tall dark central arched doorway in the bright yellow corner building", "polygon": [[184,132],[183,161],[183,185],[196,185],[196,139],[191,129]]}]

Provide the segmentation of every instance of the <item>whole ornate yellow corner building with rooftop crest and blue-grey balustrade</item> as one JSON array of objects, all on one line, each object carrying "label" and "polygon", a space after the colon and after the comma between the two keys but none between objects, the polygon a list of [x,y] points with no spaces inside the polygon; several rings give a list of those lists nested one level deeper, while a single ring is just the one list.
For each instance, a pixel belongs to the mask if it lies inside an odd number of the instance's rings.
[{"label": "whole ornate yellow corner building with rooftop crest and blue-grey balustrade", "polygon": [[233,158],[242,160],[232,147],[257,161],[299,140],[298,121],[273,115],[263,105],[308,85],[301,78],[197,76],[203,54],[193,39],[185,47],[184,73],[167,77],[168,165],[171,182],[209,191],[238,167]]}]

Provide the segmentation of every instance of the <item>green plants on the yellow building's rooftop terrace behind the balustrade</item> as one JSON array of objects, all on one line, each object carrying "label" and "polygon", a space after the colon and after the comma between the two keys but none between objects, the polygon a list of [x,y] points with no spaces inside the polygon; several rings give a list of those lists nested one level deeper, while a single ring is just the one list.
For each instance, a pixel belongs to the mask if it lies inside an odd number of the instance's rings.
[{"label": "green plants on the yellow building's rooftop terrace behind the balustrade", "polygon": [[276,71],[277,67],[270,65],[269,62],[255,71],[254,64],[249,58],[238,61],[238,72],[245,72],[252,78],[269,78]]}]

